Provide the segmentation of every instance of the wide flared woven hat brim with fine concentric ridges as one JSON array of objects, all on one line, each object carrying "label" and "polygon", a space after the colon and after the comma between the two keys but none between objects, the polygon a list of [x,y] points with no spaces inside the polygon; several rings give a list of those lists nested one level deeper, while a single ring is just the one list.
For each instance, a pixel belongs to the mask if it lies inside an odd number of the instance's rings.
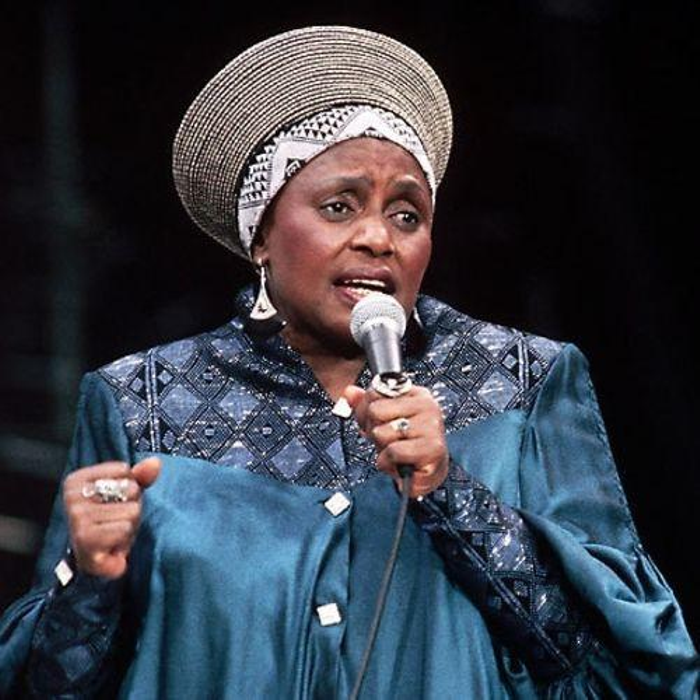
[{"label": "wide flared woven hat brim with fine concentric ridges", "polygon": [[175,187],[192,220],[238,255],[238,181],[259,144],[328,107],[388,109],[418,134],[439,183],[452,145],[447,93],[395,39],[352,27],[306,27],[250,47],[212,78],[175,136]]}]

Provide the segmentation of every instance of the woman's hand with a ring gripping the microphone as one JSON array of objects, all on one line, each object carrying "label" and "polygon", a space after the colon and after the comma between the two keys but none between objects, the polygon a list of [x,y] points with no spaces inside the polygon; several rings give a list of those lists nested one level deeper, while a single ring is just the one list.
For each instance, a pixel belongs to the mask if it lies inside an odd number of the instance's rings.
[{"label": "woman's hand with a ring gripping the microphone", "polygon": [[377,467],[397,484],[397,465],[414,467],[411,498],[434,491],[447,477],[449,455],[442,410],[424,387],[414,386],[397,398],[348,386],[343,392],[364,435],[377,447]]}]

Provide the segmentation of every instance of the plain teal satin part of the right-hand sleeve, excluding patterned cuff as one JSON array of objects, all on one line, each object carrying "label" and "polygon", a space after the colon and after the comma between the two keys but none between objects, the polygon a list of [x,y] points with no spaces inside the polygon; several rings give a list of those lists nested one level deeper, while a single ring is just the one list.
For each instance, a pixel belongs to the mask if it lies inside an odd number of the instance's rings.
[{"label": "plain teal satin part of the right-hand sleeve, excluding patterned cuff", "polygon": [[[698,656],[678,603],[632,523],[582,353],[568,345],[525,424],[521,514],[601,630],[580,683],[697,697]],[[593,682],[593,681],[591,681]],[[583,688],[581,689],[583,691]]]}]

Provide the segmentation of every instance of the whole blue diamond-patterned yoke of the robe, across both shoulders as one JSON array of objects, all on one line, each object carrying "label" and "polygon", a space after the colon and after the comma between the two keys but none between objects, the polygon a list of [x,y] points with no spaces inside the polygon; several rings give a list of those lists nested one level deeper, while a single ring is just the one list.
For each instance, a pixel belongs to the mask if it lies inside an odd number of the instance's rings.
[{"label": "whole blue diamond-patterned yoke of the robe, across both shoulders", "polygon": [[[279,336],[253,341],[238,315],[193,338],[129,355],[99,370],[137,451],[248,469],[292,483],[352,488],[376,473],[371,443],[332,403],[308,365]],[[421,297],[424,347],[406,369],[441,402],[447,432],[526,408],[559,343],[476,321]],[[366,384],[364,371],[360,383]]]}]

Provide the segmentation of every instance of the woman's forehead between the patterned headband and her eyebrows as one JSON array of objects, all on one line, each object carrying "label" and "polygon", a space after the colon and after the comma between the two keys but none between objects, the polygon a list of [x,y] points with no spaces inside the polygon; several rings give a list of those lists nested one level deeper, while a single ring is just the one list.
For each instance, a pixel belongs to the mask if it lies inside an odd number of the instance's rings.
[{"label": "woman's forehead between the patterned headband and her eyebrows", "polygon": [[331,146],[304,166],[288,184],[299,186],[321,180],[365,177],[374,184],[396,180],[413,180],[425,189],[425,174],[418,161],[401,146],[384,139],[362,137]]}]

